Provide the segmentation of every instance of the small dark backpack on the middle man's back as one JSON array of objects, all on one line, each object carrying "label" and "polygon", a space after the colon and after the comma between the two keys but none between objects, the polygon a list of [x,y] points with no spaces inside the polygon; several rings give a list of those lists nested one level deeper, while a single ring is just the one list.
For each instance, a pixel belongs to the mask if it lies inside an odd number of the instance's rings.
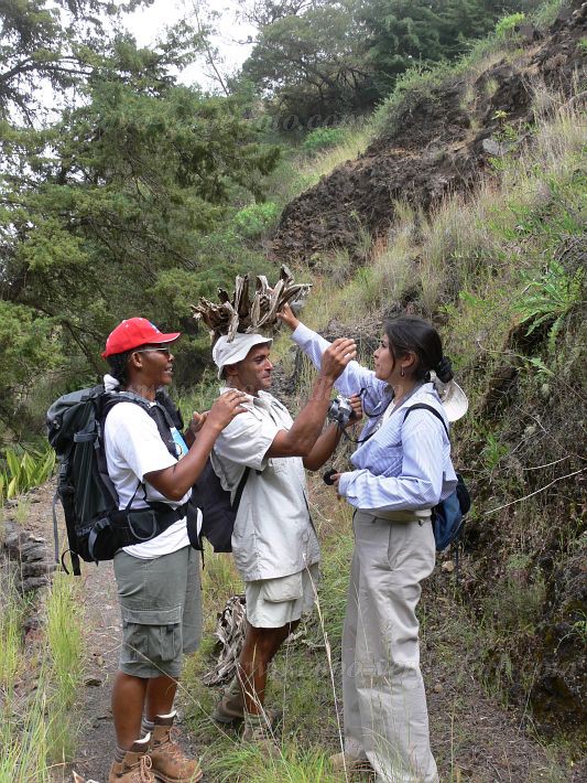
[{"label": "small dark backpack on the middle man's back", "polygon": [[[202,550],[202,537],[205,536],[213,545],[214,551],[232,551],[235,519],[249,473],[250,468],[246,468],[237,486],[235,500],[231,502],[230,492],[222,487],[210,459],[206,460],[187,504],[187,535],[195,549]],[[198,508],[202,511],[199,533],[197,530]]]}]

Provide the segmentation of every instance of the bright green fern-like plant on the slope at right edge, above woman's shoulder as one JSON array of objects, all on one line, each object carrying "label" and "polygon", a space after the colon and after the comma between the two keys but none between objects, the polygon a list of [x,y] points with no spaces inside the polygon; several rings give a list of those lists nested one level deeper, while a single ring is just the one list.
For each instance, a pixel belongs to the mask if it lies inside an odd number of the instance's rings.
[{"label": "bright green fern-like plant on the slope at right edge, above woman's shoulder", "polygon": [[556,337],[570,311],[581,303],[585,293],[585,269],[568,275],[564,266],[552,260],[539,278],[523,275],[525,288],[517,302],[522,323],[529,323],[526,335],[548,324],[548,348],[554,353]]}]

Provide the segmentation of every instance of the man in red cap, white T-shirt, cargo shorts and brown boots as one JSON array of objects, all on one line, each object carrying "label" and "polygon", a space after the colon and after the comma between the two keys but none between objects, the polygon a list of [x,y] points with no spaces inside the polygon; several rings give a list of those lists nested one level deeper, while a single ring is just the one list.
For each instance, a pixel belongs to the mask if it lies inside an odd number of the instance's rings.
[{"label": "man in red cap, white T-shirt, cargo shorts and brown boots", "polygon": [[157,508],[159,525],[157,535],[120,549],[113,560],[123,643],[112,688],[117,751],[109,783],[154,782],[153,773],[167,783],[187,783],[203,774],[171,738],[182,656],[198,646],[202,625],[198,559],[187,537],[185,504],[218,435],[243,411],[244,395],[231,390],[207,417],[194,415],[199,432],[189,450],[174,428],[164,442],[144,406],[156,407],[155,394],[172,382],[170,346],[178,336],[131,318],[110,333],[102,353],[110,365],[106,389],[126,393],[105,422],[119,508]]}]

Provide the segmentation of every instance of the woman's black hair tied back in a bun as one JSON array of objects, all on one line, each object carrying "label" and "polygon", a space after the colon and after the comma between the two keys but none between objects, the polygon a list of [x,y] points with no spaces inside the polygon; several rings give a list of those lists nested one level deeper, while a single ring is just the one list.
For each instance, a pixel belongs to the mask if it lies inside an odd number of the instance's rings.
[{"label": "woman's black hair tied back in a bun", "polygon": [[434,326],[416,315],[400,315],[383,321],[390,353],[395,360],[412,351],[416,356],[415,380],[430,379],[433,369],[444,384],[452,380],[450,360],[443,355],[441,335]]}]

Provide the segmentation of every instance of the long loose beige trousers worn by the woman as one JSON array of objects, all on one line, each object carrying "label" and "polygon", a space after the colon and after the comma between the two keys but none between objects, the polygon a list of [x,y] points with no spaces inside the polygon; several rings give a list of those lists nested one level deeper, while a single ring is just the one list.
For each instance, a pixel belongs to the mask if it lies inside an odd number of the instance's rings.
[{"label": "long loose beige trousers worn by the woman", "polygon": [[436,783],[415,608],[434,568],[430,521],[357,511],[343,632],[345,750],[377,781]]}]

